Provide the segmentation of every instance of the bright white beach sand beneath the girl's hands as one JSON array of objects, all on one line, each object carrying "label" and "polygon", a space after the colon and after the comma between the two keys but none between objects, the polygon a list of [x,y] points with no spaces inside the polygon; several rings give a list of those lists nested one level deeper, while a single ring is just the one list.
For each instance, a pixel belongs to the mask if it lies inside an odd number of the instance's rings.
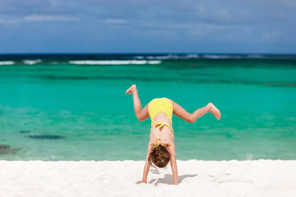
[{"label": "bright white beach sand beneath the girl's hands", "polygon": [[0,197],[296,197],[296,161],[178,161],[179,185],[168,168],[144,161],[0,161]]}]

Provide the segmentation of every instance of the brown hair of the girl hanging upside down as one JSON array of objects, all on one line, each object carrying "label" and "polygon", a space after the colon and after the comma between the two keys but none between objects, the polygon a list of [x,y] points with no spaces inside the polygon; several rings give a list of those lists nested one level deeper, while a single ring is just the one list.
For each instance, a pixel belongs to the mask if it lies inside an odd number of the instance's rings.
[{"label": "brown hair of the girl hanging upside down", "polygon": [[159,144],[156,147],[152,147],[148,157],[148,164],[157,169],[155,166],[159,168],[165,167],[170,160],[171,154],[169,153],[168,145]]}]

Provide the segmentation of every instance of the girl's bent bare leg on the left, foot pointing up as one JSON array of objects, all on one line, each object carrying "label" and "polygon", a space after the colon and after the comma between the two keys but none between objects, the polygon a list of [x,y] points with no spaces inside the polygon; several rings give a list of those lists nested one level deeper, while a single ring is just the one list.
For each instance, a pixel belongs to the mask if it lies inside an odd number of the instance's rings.
[{"label": "girl's bent bare leg on the left, foot pointing up", "polygon": [[132,85],[129,89],[127,89],[127,95],[133,94],[133,102],[134,102],[134,110],[139,121],[145,121],[149,117],[148,113],[148,104],[142,109],[141,101],[138,95],[138,90],[136,85]]}]

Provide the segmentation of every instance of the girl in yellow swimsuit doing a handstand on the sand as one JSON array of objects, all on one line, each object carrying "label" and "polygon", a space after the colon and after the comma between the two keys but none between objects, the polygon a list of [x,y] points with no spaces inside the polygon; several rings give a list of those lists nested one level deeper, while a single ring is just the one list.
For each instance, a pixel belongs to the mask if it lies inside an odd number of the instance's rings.
[{"label": "girl in yellow swimsuit doing a handstand on the sand", "polygon": [[209,103],[190,114],[176,102],[167,98],[153,99],[142,109],[136,85],[132,85],[127,89],[126,94],[133,94],[134,110],[139,121],[145,121],[149,116],[151,118],[150,141],[148,143],[143,179],[136,184],[147,183],[150,166],[162,168],[171,162],[173,185],[178,185],[176,149],[174,130],[172,128],[173,113],[189,123],[194,123],[208,112],[219,120],[221,117],[219,109],[214,104]]}]

